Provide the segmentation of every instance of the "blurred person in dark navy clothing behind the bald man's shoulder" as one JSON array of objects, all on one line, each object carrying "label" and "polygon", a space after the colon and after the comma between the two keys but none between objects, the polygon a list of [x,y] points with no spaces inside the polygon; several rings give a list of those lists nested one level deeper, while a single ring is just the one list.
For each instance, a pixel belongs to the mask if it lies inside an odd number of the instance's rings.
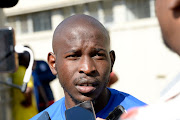
[{"label": "blurred person in dark navy clothing behind the bald man's shoulder", "polygon": [[33,68],[34,86],[36,87],[36,101],[38,111],[41,112],[54,103],[54,95],[50,82],[56,78],[48,64],[43,60],[35,60]]}]

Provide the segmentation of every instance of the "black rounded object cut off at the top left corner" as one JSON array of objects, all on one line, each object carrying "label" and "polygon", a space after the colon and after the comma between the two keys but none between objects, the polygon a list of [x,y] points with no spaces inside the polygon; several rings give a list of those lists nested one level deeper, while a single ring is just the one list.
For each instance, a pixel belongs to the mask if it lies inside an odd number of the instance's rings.
[{"label": "black rounded object cut off at the top left corner", "polygon": [[9,8],[13,7],[18,3],[18,0],[1,0],[0,8]]}]

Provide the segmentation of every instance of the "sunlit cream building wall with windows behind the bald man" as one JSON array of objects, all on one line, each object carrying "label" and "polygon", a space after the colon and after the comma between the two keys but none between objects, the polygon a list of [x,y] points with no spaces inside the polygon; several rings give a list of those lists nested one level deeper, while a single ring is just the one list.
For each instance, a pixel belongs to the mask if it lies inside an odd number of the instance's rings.
[{"label": "sunlit cream building wall with windows behind the bald man", "polygon": [[[116,52],[114,71],[119,77],[113,88],[153,103],[179,72],[178,56],[162,42],[154,0],[21,1],[16,8],[5,9],[7,25],[16,29],[17,44],[29,45],[36,59],[47,59],[47,53],[52,51],[53,31],[64,18],[84,13],[98,19],[109,30],[111,48]],[[51,28],[34,31],[33,17],[42,12],[50,13]],[[26,16],[26,23],[23,16]],[[21,31],[23,25],[27,25],[23,28],[25,31]],[[63,96],[57,83],[58,80],[52,82],[56,100]]]}]

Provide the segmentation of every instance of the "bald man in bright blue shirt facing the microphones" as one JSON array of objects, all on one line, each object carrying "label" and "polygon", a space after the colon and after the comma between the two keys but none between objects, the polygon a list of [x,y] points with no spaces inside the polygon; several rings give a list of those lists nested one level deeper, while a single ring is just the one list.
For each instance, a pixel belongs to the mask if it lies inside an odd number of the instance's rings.
[{"label": "bald man in bright blue shirt facing the microphones", "polygon": [[[47,111],[52,120],[65,120],[65,110],[92,101],[96,117],[106,118],[118,105],[126,110],[146,105],[133,96],[107,88],[115,62],[104,26],[87,15],[73,15],[56,28],[48,63],[64,89],[65,97]],[[32,120],[37,119],[42,113]]]}]

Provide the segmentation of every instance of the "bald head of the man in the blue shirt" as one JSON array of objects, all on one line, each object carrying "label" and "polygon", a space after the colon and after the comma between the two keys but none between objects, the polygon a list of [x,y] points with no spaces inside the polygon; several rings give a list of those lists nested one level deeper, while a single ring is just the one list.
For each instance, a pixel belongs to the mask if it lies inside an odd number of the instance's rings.
[{"label": "bald head of the man in the blue shirt", "polygon": [[48,63],[68,101],[77,104],[106,96],[115,54],[99,21],[87,15],[71,16],[58,25],[52,44],[54,53],[49,53]]}]

